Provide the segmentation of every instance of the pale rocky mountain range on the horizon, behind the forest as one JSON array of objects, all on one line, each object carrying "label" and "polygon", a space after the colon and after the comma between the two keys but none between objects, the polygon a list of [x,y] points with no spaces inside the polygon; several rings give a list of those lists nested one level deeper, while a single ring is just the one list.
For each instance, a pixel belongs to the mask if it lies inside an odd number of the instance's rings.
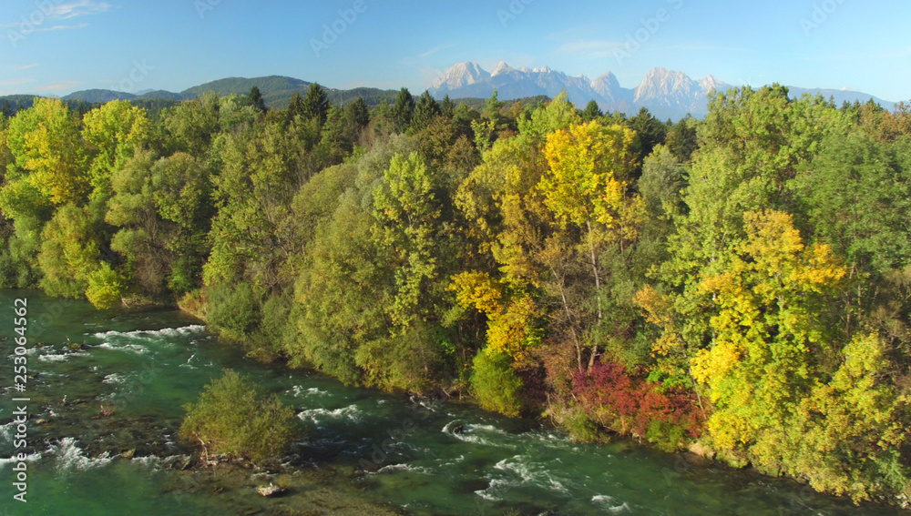
[{"label": "pale rocky mountain range on the horizon, behind the forest", "polygon": [[[465,96],[487,98],[496,91],[500,100],[528,96],[557,96],[566,91],[571,102],[578,107],[589,101],[598,103],[602,111],[634,114],[641,107],[660,119],[679,120],[686,115],[701,118],[708,113],[708,95],[712,90],[723,91],[734,87],[724,81],[707,76],[696,80],[683,72],[665,68],[652,68],[635,88],[622,87],[617,76],[608,72],[597,79],[586,76],[568,76],[547,66],[541,68],[513,68],[500,61],[493,72],[487,72],[475,62],[450,66],[430,88],[436,98]],[[789,86],[791,96],[820,94],[833,98],[836,105],[844,101],[873,100],[880,106],[891,108],[894,103],[865,93],[821,88]]]}]

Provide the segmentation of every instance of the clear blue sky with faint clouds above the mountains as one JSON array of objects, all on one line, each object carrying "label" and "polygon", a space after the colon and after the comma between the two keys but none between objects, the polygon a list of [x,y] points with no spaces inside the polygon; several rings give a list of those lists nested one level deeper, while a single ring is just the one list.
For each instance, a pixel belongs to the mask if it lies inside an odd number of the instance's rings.
[{"label": "clear blue sky with faint clouds above the mountains", "polygon": [[0,95],[269,75],[420,92],[456,62],[504,59],[612,71],[626,87],[664,66],[899,101],[911,98],[909,22],[906,0],[4,0]]}]

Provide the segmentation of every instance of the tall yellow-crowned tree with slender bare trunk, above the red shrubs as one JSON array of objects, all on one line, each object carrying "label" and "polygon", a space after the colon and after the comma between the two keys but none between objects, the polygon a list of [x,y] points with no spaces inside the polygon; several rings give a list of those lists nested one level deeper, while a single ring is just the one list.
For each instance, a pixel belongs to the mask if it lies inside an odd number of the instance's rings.
[{"label": "tall yellow-crowned tree with slender bare trunk, above the red shrubs", "polygon": [[[599,323],[604,319],[599,248],[619,245],[622,254],[625,245],[636,238],[644,210],[640,197],[627,189],[635,167],[630,148],[635,138],[636,133],[623,126],[589,122],[548,135],[544,147],[549,170],[537,189],[560,228],[573,225],[586,235],[582,246],[594,280]],[[589,365],[598,354],[597,331],[595,335]]]}]

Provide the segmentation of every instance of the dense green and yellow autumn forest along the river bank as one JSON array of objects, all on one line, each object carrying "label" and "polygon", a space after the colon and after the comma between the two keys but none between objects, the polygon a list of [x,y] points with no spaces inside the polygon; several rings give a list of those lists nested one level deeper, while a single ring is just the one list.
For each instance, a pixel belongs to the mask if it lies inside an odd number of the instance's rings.
[{"label": "dense green and yellow autumn forest along the river bank", "polygon": [[402,89],[0,115],[0,282],[855,501],[911,495],[911,108]]}]

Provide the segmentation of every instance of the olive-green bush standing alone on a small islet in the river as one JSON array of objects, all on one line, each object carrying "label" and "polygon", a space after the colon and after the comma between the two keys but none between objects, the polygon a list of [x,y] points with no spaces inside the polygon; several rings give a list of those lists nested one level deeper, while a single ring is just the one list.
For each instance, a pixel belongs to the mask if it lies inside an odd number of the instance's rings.
[{"label": "olive-green bush standing alone on a small islet in the river", "polygon": [[261,462],[280,456],[297,434],[294,410],[278,397],[264,396],[249,379],[228,370],[184,407],[181,440],[202,444],[206,455],[221,454]]}]

